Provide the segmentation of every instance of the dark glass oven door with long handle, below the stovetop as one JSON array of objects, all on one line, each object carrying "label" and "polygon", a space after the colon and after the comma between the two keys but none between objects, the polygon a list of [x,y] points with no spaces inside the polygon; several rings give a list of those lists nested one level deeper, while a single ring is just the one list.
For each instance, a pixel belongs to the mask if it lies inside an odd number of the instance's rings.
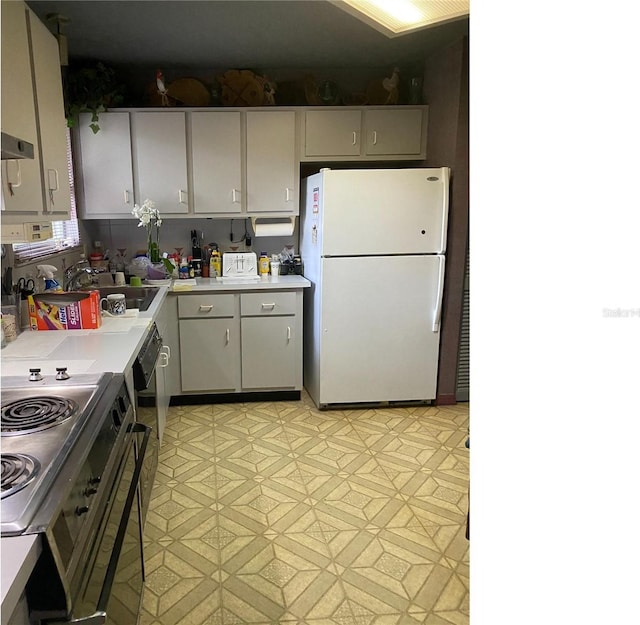
[{"label": "dark glass oven door with long handle, below the stovetop", "polygon": [[144,558],[138,487],[151,429],[131,426],[102,523],[78,580],[82,592],[74,602],[72,620],[55,623],[135,625],[144,584]]}]

